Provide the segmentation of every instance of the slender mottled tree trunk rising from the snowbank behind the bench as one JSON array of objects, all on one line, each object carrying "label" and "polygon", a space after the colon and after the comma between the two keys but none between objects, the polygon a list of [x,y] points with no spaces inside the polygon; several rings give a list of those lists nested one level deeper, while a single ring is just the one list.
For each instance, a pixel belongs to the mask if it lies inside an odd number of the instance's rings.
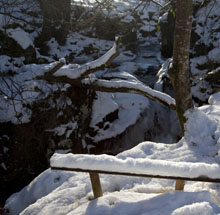
[{"label": "slender mottled tree trunk rising from the snowbank behind the bench", "polygon": [[173,62],[169,68],[175,92],[176,111],[184,135],[184,113],[193,107],[189,79],[189,50],[192,25],[193,1],[176,1],[176,25],[174,34]]}]

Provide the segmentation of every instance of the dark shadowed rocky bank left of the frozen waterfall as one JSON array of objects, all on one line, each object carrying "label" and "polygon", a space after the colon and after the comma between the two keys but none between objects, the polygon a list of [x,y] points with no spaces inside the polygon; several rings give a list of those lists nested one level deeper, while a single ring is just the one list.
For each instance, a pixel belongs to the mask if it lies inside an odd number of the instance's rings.
[{"label": "dark shadowed rocky bank left of the frozen waterfall", "polygon": [[71,87],[34,103],[29,123],[0,123],[0,204],[47,169],[55,150],[87,153],[94,95]]}]

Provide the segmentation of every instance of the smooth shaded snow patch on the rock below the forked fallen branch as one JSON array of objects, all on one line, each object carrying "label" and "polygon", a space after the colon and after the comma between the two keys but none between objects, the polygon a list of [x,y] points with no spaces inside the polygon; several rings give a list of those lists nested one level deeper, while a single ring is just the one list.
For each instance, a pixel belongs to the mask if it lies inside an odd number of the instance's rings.
[{"label": "smooth shaded snow patch on the rock below the forked fallen branch", "polygon": [[[126,73],[107,73],[105,77],[125,78],[136,80],[134,76]],[[97,132],[95,137],[90,137],[94,142],[109,139],[121,134],[129,126],[134,125],[140,115],[149,107],[149,100],[143,96],[127,93],[103,93],[97,92],[97,98],[93,102],[93,114],[90,127]],[[117,119],[106,121],[105,117],[118,111]],[[129,117],[127,117],[129,116]],[[98,126],[103,123],[103,128]],[[108,129],[106,129],[108,126]]]}]

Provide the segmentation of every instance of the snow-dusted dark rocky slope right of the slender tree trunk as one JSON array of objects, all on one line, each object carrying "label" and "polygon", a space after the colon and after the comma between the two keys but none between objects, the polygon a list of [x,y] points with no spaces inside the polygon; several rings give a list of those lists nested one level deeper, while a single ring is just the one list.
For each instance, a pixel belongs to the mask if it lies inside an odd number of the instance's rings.
[{"label": "snow-dusted dark rocky slope right of the slender tree trunk", "polygon": [[194,100],[201,105],[220,87],[219,1],[196,1],[191,37],[191,76]]}]

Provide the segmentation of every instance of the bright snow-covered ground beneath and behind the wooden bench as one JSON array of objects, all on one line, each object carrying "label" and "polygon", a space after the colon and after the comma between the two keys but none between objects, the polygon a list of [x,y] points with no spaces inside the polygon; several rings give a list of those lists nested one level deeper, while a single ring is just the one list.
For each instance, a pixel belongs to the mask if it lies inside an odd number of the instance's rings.
[{"label": "bright snow-covered ground beneath and behind the wooden bench", "polygon": [[[217,93],[209,99],[210,105],[187,113],[186,135],[178,143],[143,142],[118,154],[116,159],[157,159],[162,164],[163,161],[165,164],[178,161],[219,164],[219,100]],[[172,180],[114,175],[101,175],[100,178],[104,196],[93,200],[87,173],[48,169],[19,193],[13,194],[7,200],[6,208],[10,214],[22,215],[220,214],[219,185],[215,183],[186,182],[184,191],[174,191]]]}]

